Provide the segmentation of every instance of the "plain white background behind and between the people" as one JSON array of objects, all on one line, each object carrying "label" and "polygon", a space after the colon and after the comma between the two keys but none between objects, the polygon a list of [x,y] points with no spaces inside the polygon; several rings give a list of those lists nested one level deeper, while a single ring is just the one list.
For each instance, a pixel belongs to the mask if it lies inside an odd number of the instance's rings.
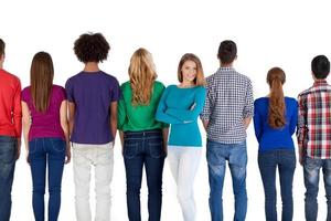
[{"label": "plain white background behind and between the people", "polygon": [[[158,80],[169,85],[178,84],[177,65],[182,54],[193,52],[200,56],[205,75],[209,76],[218,67],[216,53],[220,42],[226,39],[234,40],[238,48],[235,69],[252,78],[255,98],[268,93],[265,78],[270,67],[277,65],[285,70],[286,95],[296,97],[300,91],[312,84],[311,59],[318,54],[331,57],[330,3],[320,0],[0,0],[0,38],[7,43],[4,69],[17,74],[23,87],[29,85],[31,61],[39,51],[46,51],[53,56],[54,83],[64,85],[70,76],[78,73],[83,64],[74,55],[73,43],[79,34],[87,31],[102,32],[109,41],[109,57],[100,67],[115,75],[120,83],[128,80],[129,59],[140,46],[152,53]],[[257,167],[258,146],[253,125],[248,129],[247,141],[247,220],[264,220],[264,190]],[[116,143],[111,220],[121,221],[127,220],[126,181],[119,140]],[[12,190],[13,221],[33,220],[31,176],[24,154],[23,150],[17,164]],[[75,220],[72,170],[72,164],[65,167],[58,219],[61,221]],[[229,170],[226,172],[224,220],[232,220],[232,182]],[[142,220],[147,220],[145,181],[142,187]],[[205,148],[194,187],[197,220],[210,220]],[[93,188],[94,186],[92,202]],[[303,194],[302,168],[297,165],[293,181],[293,220],[297,221],[305,219]],[[322,179],[319,202],[319,220],[325,220]],[[278,198],[279,218],[280,206]],[[162,220],[182,220],[168,162],[163,175]]]}]

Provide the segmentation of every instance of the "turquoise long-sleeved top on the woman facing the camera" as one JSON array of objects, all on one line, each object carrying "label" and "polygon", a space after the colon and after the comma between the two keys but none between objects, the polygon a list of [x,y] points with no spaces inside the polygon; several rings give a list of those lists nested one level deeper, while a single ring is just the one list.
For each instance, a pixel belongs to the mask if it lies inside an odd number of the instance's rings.
[{"label": "turquoise long-sleeved top on the woman facing the camera", "polygon": [[203,86],[181,88],[170,85],[166,88],[158,106],[157,120],[171,124],[170,146],[202,146],[197,117],[204,99]]}]

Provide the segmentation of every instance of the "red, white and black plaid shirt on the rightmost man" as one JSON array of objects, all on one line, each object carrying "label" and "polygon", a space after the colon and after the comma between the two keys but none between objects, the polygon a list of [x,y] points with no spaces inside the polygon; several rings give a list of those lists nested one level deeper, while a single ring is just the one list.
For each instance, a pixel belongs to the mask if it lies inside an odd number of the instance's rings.
[{"label": "red, white and black plaid shirt on the rightmost man", "polygon": [[331,85],[316,81],[298,96],[297,138],[310,158],[331,159]]}]

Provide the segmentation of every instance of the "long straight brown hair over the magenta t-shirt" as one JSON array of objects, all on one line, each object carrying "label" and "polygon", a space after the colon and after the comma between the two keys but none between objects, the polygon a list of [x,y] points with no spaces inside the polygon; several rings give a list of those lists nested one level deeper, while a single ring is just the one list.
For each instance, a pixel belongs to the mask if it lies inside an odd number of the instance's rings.
[{"label": "long straight brown hair over the magenta t-shirt", "polygon": [[49,53],[39,52],[34,55],[30,70],[31,95],[34,108],[45,113],[50,105],[53,85],[53,61]]}]

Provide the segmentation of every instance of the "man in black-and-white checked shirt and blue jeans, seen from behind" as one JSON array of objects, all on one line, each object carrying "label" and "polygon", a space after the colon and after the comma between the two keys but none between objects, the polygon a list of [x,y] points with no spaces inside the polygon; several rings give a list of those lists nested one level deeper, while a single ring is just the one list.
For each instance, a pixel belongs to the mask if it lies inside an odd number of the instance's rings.
[{"label": "man in black-and-white checked shirt and blue jeans, seen from behind", "polygon": [[210,178],[210,210],[213,221],[223,220],[222,192],[226,160],[235,194],[234,220],[245,220],[246,193],[246,128],[253,116],[250,80],[233,69],[237,48],[223,41],[217,57],[218,71],[206,80],[206,99],[201,119],[207,131],[206,158]]}]

